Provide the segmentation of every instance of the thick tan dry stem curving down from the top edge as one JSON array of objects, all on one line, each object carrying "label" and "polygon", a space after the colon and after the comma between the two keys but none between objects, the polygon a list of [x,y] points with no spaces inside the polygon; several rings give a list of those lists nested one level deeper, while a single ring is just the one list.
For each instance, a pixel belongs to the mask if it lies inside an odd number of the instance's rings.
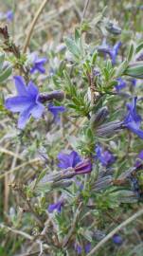
[{"label": "thick tan dry stem curving down from the top edge", "polygon": [[37,10],[35,16],[34,16],[34,19],[29,27],[29,30],[28,30],[28,33],[27,33],[27,38],[26,38],[26,41],[25,41],[25,44],[24,44],[24,50],[23,50],[23,53],[26,53],[27,51],[27,46],[29,45],[29,42],[30,42],[30,38],[31,38],[31,35],[32,35],[32,32],[33,32],[33,29],[36,25],[36,22],[39,18],[39,16],[41,15],[43,9],[45,9],[45,5],[46,5],[46,2],[48,0],[45,0],[44,2],[42,2],[40,8]]}]

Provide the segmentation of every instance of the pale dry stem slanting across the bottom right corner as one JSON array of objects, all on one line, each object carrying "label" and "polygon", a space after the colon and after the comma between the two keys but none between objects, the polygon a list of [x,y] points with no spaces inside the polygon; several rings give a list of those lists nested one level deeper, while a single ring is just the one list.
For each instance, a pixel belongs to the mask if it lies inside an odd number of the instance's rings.
[{"label": "pale dry stem slanting across the bottom right corner", "polygon": [[[102,247],[109,239],[111,239],[113,237],[113,235],[115,235],[120,229],[123,229],[124,227],[126,227],[128,224],[130,224],[131,222],[133,222],[136,218],[138,218],[139,216],[141,216],[143,214],[143,209],[138,210],[137,212],[134,213],[133,216],[129,217],[127,220],[125,220],[124,222],[122,222],[120,225],[118,225],[116,227],[116,229],[112,230],[108,235],[106,235],[99,243],[96,247],[94,247],[86,256],[91,256],[93,255],[95,252],[98,251],[98,249],[100,247]],[[95,255],[95,254],[94,254]]]}]

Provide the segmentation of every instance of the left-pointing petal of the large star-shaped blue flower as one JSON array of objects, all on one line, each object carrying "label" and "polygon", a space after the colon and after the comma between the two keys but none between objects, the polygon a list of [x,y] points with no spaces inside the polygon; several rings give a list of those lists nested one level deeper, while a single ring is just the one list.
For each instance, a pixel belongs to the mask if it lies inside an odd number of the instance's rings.
[{"label": "left-pointing petal of the large star-shaped blue flower", "polygon": [[5,107],[14,113],[24,111],[30,104],[30,98],[25,96],[15,96],[5,101]]}]

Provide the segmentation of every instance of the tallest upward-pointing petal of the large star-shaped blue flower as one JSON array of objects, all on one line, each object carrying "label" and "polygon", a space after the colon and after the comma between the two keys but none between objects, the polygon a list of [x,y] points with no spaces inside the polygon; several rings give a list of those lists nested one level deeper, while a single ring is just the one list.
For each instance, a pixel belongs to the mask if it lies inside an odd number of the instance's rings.
[{"label": "tallest upward-pointing petal of the large star-shaped blue flower", "polygon": [[27,86],[24,79],[21,76],[15,76],[13,78],[18,95],[27,96]]}]

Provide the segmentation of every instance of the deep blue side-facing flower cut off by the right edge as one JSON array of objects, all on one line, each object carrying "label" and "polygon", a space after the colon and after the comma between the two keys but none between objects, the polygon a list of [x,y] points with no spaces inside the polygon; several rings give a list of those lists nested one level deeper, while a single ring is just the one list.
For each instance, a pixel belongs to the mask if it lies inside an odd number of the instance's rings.
[{"label": "deep blue side-facing flower cut off by the right edge", "polygon": [[128,114],[124,119],[124,126],[131,130],[135,135],[143,139],[143,130],[140,129],[141,117],[136,113],[137,97],[127,104]]}]

